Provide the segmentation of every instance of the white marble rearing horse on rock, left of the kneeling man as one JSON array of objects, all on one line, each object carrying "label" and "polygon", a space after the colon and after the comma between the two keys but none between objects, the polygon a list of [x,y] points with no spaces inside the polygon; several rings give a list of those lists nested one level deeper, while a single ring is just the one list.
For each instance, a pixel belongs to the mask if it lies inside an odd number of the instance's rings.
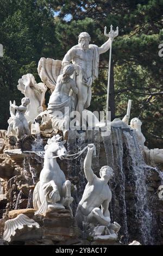
[{"label": "white marble rearing horse on rock, left of the kneeling man", "polygon": [[71,197],[71,182],[66,180],[64,172],[57,163],[57,157],[63,160],[67,156],[64,147],[66,141],[61,141],[60,135],[48,139],[45,146],[43,169],[40,173],[40,181],[37,182],[33,193],[33,206],[36,214],[46,215],[53,209],[69,209],[73,201]]}]

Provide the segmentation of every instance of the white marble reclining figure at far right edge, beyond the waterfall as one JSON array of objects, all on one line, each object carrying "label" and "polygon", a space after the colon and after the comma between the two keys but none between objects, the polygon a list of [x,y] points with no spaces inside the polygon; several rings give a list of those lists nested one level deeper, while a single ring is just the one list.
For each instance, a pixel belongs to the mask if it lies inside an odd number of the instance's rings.
[{"label": "white marble reclining figure at far right edge, beyond the waterfall", "polygon": [[139,118],[133,118],[130,121],[130,127],[136,132],[140,147],[143,150],[143,155],[148,164],[155,166],[155,164],[163,163],[163,149],[148,149],[145,146],[146,138],[141,132],[142,122]]}]

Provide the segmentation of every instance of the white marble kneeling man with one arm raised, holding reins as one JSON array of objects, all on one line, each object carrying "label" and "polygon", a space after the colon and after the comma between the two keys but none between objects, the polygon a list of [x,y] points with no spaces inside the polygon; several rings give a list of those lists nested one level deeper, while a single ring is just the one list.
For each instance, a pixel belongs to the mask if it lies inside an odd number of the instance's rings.
[{"label": "white marble kneeling man with one arm raised, holding reins", "polygon": [[[78,227],[81,229],[83,229],[85,223],[100,225],[98,231],[99,229],[103,229],[101,226],[105,226],[108,228],[108,235],[111,235],[111,231],[109,233],[109,227],[114,224],[110,223],[110,212],[108,209],[111,201],[111,191],[108,186],[108,181],[113,176],[113,170],[109,166],[103,166],[99,172],[101,178],[98,178],[91,169],[92,155],[95,150],[95,145],[89,144],[87,149],[87,155],[84,160],[84,173],[87,179],[87,184],[77,208],[76,221]],[[99,208],[100,206],[101,209]],[[97,228],[93,231],[96,233]]]}]

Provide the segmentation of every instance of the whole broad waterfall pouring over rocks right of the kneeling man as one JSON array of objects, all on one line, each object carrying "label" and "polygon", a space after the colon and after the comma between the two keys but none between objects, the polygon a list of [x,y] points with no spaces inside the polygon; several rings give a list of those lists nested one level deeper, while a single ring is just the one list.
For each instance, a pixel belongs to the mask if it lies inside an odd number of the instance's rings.
[{"label": "whole broad waterfall pouring over rocks right of the kneeling man", "polygon": [[129,128],[111,127],[110,136],[103,137],[103,144],[106,162],[115,174],[109,182],[111,221],[121,224],[123,243],[137,239],[143,245],[152,245],[156,221],[146,183],[150,170],[155,168],[143,160],[137,138]]}]

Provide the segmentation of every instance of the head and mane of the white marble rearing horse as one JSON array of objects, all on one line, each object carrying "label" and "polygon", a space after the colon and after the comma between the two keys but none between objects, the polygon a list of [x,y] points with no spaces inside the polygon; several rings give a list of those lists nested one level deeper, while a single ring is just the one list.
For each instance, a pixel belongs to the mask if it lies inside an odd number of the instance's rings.
[{"label": "head and mane of the white marble rearing horse", "polygon": [[48,139],[45,146],[45,153],[49,158],[55,158],[59,156],[60,160],[63,160],[67,156],[67,150],[64,146],[66,141],[62,141],[62,136],[54,135],[51,139]]}]

